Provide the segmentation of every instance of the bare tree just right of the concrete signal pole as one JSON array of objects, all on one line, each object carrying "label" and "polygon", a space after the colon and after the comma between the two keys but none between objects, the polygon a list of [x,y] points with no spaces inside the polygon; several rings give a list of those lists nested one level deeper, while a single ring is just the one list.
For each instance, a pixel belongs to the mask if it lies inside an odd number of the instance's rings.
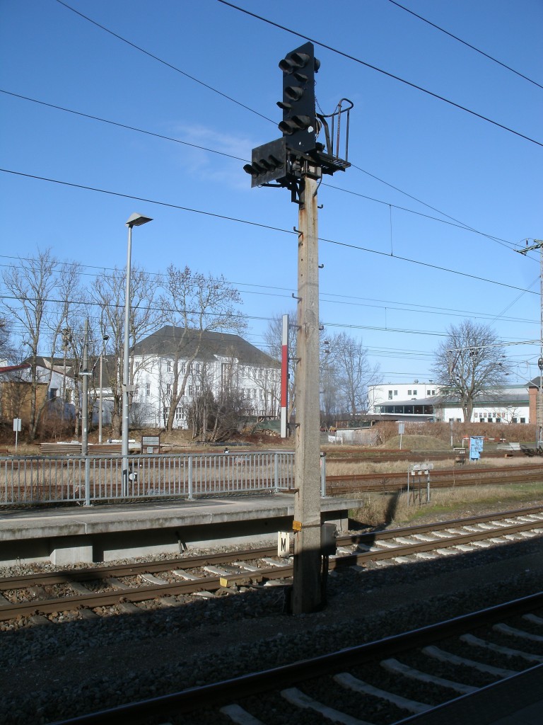
[{"label": "bare tree just right of the concrete signal pole", "polygon": [[335,392],[342,412],[357,415],[368,407],[368,386],[379,377],[361,340],[342,332],[329,337],[327,365],[334,371]]}]

